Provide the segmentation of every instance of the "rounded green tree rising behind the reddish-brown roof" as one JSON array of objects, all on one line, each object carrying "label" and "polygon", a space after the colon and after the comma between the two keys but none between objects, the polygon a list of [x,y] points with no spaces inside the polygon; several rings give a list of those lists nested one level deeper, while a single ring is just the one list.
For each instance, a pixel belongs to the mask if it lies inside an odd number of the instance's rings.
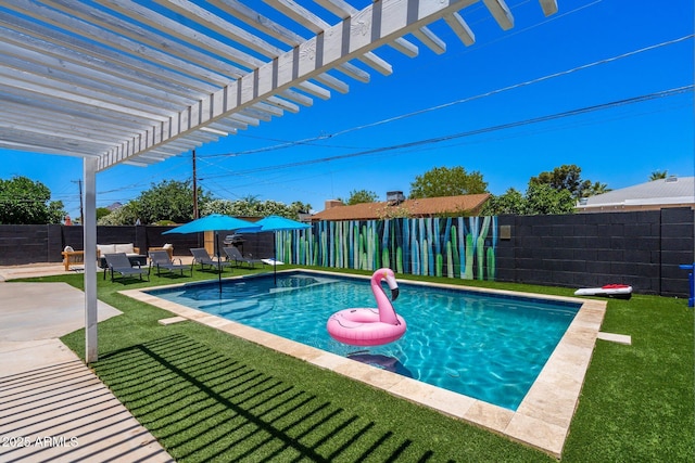
[{"label": "rounded green tree rising behind the reddish-brown roof", "polygon": [[410,183],[412,200],[421,197],[457,196],[460,194],[478,194],[488,192],[488,182],[479,171],[466,172],[456,166],[453,168],[434,167]]}]

